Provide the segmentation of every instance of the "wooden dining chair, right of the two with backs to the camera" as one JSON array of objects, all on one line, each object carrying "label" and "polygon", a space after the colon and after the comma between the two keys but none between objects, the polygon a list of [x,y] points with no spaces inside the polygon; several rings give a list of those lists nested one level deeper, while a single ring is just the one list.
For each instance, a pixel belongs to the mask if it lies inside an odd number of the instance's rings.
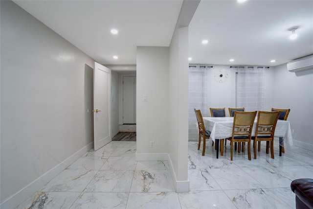
[{"label": "wooden dining chair, right of the two with backs to the camera", "polygon": [[254,159],[256,159],[256,142],[258,141],[258,151],[260,152],[261,141],[266,141],[266,153],[268,154],[268,148],[270,143],[270,157],[274,159],[274,132],[279,117],[280,111],[266,112],[259,111],[258,119],[255,126],[255,136],[253,140],[254,147]]}]

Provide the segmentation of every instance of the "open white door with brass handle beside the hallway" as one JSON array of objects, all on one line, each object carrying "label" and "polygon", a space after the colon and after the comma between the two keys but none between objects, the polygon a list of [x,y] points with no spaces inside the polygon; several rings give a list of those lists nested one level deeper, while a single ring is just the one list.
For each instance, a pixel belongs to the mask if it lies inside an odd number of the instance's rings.
[{"label": "open white door with brass handle beside the hallway", "polygon": [[94,150],[112,140],[111,136],[111,70],[94,63],[93,71]]}]

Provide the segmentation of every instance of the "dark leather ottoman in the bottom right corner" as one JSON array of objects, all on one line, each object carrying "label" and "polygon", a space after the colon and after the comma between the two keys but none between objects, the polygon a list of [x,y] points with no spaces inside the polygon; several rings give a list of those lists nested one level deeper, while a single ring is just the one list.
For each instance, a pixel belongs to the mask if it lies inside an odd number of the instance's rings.
[{"label": "dark leather ottoman in the bottom right corner", "polygon": [[313,209],[313,179],[296,179],[291,182],[296,209]]}]

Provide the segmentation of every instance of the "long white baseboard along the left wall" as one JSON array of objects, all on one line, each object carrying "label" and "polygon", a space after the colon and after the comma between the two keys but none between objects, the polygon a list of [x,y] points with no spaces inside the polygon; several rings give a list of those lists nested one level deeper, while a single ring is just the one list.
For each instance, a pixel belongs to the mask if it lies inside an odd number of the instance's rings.
[{"label": "long white baseboard along the left wall", "polygon": [[58,164],[51,170],[47,171],[44,175],[40,176],[35,181],[31,182],[29,185],[22,188],[20,191],[16,192],[12,196],[5,199],[1,204],[1,209],[12,209],[20,205],[26,198],[32,195],[34,192],[38,191],[40,188],[45,186],[51,179],[56,177],[59,173],[65,170],[70,164],[74,163],[85,153],[87,153],[93,147],[93,142],[89,143],[82,149],[78,150],[72,156],[67,158],[62,163]]}]

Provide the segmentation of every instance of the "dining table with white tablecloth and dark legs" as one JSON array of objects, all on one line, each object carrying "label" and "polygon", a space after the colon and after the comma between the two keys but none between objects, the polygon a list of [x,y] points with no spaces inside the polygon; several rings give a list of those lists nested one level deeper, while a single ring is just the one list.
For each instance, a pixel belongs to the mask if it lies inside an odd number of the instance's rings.
[{"label": "dining table with white tablecloth and dark legs", "polygon": [[[219,158],[220,139],[224,143],[224,139],[231,138],[233,131],[234,117],[203,117],[205,130],[209,131],[210,140],[216,144],[216,158]],[[252,136],[255,136],[255,127],[257,117],[254,120],[252,128]],[[293,145],[293,136],[291,125],[288,120],[278,120],[274,132],[274,137],[279,138],[279,156],[282,156],[283,141],[287,141],[289,145]],[[221,155],[223,155],[224,144],[221,143]]]}]

